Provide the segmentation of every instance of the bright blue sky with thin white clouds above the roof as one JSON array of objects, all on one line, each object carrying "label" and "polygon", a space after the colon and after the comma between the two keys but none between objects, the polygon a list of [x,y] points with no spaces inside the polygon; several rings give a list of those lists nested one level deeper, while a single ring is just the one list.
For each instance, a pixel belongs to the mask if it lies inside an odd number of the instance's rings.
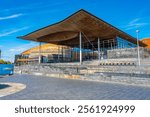
[{"label": "bright blue sky with thin white clouds above the roof", "polygon": [[150,37],[150,0],[0,0],[0,49],[2,58],[38,45],[17,39],[36,29],[63,20],[85,9],[113,26],[140,39]]}]

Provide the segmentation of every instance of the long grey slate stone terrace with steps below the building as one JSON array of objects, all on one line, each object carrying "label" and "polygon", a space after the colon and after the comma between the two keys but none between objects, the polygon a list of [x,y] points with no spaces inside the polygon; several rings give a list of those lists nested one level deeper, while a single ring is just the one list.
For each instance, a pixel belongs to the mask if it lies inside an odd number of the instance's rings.
[{"label": "long grey slate stone terrace with steps below the building", "polygon": [[150,86],[150,64],[147,62],[149,59],[142,60],[140,67],[136,65],[137,59],[86,61],[82,65],[78,62],[23,65],[16,66],[15,72]]}]

